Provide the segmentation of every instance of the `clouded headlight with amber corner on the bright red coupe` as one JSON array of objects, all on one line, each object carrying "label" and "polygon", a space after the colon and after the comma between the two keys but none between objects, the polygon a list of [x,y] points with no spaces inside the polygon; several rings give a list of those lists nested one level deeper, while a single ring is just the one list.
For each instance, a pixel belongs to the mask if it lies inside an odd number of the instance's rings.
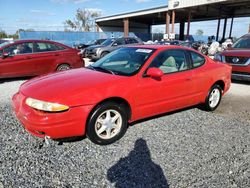
[{"label": "clouded headlight with amber corner on the bright red coupe", "polygon": [[27,98],[25,103],[31,108],[35,108],[37,110],[42,110],[46,112],[61,112],[69,109],[68,106],[62,104],[45,102],[32,98]]}]

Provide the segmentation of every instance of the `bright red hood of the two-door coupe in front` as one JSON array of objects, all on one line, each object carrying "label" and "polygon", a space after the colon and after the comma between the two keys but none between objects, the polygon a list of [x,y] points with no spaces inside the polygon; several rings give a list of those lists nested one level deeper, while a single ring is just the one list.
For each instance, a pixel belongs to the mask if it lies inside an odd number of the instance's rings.
[{"label": "bright red hood of the two-door coupe in front", "polygon": [[128,77],[86,68],[62,71],[31,79],[20,87],[26,97],[68,106],[94,104],[107,86],[125,86]]}]

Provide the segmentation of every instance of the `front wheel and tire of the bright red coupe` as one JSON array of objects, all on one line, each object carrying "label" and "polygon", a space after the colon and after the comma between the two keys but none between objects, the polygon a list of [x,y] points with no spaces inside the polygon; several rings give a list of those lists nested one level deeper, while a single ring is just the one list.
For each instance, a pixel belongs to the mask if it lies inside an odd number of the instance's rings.
[{"label": "front wheel and tire of the bright red coupe", "polygon": [[[109,118],[111,117],[111,118]],[[119,140],[128,127],[124,108],[113,102],[98,105],[87,123],[87,137],[98,145],[112,144]]]}]

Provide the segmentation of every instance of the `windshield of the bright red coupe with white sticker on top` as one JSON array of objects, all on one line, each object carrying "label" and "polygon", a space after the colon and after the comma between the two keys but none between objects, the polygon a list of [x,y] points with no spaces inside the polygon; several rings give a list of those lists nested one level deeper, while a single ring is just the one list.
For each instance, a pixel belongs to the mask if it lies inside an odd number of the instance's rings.
[{"label": "windshield of the bright red coupe with white sticker on top", "polygon": [[120,48],[101,58],[89,68],[111,74],[135,75],[154,53],[151,48]]}]

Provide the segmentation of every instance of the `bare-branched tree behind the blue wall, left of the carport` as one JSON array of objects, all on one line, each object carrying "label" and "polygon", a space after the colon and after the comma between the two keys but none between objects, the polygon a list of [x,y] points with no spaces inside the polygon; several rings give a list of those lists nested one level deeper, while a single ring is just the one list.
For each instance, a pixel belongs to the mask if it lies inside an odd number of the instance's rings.
[{"label": "bare-branched tree behind the blue wall, left of the carport", "polygon": [[77,9],[74,20],[66,20],[64,22],[65,31],[91,31],[94,30],[95,18],[101,13],[91,9]]}]

